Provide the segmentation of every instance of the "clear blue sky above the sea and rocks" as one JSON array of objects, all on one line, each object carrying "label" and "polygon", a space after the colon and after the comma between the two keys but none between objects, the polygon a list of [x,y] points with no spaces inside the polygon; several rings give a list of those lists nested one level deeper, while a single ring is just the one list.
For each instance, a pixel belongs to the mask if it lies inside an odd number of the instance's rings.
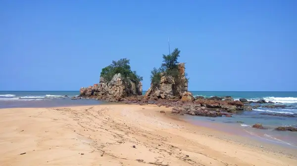
[{"label": "clear blue sky above the sea and rocks", "polygon": [[0,0],[0,90],[79,90],[170,45],[191,91],[297,91],[296,0]]}]

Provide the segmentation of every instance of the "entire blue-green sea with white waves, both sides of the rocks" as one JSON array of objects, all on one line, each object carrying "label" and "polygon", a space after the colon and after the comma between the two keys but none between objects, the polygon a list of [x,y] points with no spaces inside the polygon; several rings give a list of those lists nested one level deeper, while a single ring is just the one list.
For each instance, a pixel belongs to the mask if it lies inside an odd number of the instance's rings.
[{"label": "entire blue-green sea with white waves, both sides of the rocks", "polygon": [[[143,92],[145,94],[145,91]],[[219,128],[225,132],[246,134],[253,138],[278,143],[297,148],[297,132],[279,132],[274,128],[279,126],[297,127],[297,92],[200,92],[192,91],[194,96],[205,98],[218,96],[231,96],[234,100],[245,98],[247,100],[266,100],[281,102],[285,108],[263,108],[259,107],[252,111],[243,111],[233,117],[199,117],[184,116],[190,122],[205,127]],[[78,96],[78,91],[0,91],[0,108],[15,107],[57,107],[76,105],[102,104],[99,100],[71,100]],[[282,117],[261,115],[260,113],[280,113],[294,115],[295,117]],[[251,128],[255,123],[261,123],[268,130]],[[218,125],[219,124],[219,125]],[[242,133],[241,133],[242,132]]]}]

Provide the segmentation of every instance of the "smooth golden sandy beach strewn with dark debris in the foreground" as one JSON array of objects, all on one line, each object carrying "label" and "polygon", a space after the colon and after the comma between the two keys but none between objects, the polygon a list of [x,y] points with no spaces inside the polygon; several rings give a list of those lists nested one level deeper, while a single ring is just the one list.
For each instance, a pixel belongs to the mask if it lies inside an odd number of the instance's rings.
[{"label": "smooth golden sandy beach strewn with dark debris in the foreground", "polygon": [[0,109],[0,166],[296,166],[296,149],[170,112],[129,104]]}]

